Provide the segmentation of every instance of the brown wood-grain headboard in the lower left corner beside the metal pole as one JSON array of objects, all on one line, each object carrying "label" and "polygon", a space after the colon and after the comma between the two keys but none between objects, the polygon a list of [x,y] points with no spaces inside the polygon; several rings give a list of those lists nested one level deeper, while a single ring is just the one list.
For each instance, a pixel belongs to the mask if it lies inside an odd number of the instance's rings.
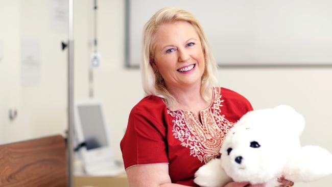
[{"label": "brown wood-grain headboard in the lower left corner beside the metal pole", "polygon": [[0,146],[0,186],[67,186],[61,135]]}]

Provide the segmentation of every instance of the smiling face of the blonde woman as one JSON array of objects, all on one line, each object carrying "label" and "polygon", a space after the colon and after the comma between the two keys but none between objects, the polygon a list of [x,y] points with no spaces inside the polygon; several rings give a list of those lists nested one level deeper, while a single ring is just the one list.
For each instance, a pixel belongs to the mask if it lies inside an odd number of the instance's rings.
[{"label": "smiling face of the blonde woman", "polygon": [[161,25],[155,33],[153,68],[167,88],[200,86],[205,62],[195,28],[186,21]]}]

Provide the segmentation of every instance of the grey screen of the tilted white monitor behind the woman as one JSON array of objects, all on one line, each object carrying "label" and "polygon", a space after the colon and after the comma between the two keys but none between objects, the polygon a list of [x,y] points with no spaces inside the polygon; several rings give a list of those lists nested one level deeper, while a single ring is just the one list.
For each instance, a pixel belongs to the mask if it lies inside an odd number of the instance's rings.
[{"label": "grey screen of the tilted white monitor behind the woman", "polygon": [[87,150],[108,146],[100,105],[78,106]]}]

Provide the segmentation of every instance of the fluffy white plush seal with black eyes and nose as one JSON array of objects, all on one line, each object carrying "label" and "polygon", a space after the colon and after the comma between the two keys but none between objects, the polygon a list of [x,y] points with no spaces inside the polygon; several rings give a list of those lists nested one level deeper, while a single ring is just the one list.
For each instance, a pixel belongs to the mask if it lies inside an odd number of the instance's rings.
[{"label": "fluffy white plush seal with black eyes and nose", "polygon": [[194,181],[207,187],[221,187],[230,181],[275,187],[282,176],[309,182],[331,174],[332,155],[327,150],[301,147],[303,128],[303,116],[286,105],[250,111],[226,135],[221,158],[199,168]]}]

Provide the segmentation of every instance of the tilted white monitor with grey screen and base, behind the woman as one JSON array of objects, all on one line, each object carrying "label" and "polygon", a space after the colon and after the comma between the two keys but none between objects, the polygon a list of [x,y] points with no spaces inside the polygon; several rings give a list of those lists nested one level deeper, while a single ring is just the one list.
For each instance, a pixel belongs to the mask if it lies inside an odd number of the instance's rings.
[{"label": "tilted white monitor with grey screen and base, behind the woman", "polygon": [[77,144],[84,143],[80,154],[85,172],[98,175],[110,174],[118,167],[110,146],[110,134],[105,121],[101,102],[96,100],[75,103],[75,139]]}]

